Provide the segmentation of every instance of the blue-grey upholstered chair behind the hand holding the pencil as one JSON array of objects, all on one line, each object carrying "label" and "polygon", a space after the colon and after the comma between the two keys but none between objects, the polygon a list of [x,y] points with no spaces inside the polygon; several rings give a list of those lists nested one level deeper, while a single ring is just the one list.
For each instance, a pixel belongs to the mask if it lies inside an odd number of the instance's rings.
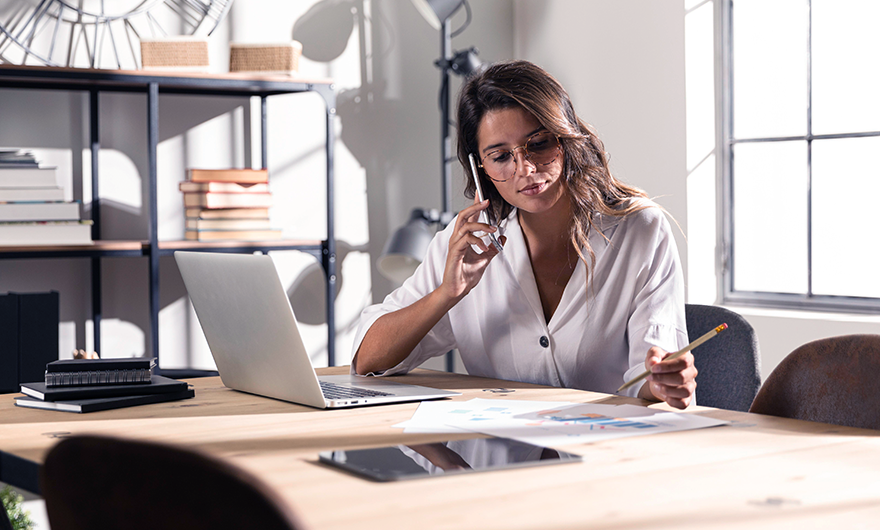
[{"label": "blue-grey upholstered chair behind the hand holding the pencil", "polygon": [[718,306],[686,304],[688,340],[693,342],[720,324],[727,329],[697,347],[697,404],[728,410],[749,410],[761,387],[758,339],[737,313]]}]

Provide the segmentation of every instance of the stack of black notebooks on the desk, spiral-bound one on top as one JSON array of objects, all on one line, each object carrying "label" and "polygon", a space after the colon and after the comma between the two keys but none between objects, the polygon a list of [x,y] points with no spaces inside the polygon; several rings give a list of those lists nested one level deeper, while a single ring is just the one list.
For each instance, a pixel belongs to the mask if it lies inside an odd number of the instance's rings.
[{"label": "stack of black notebooks on the desk, spiral-bound one on top", "polygon": [[19,407],[96,412],[195,396],[184,381],[153,375],[155,358],[67,359],[46,365],[42,383],[22,383]]}]

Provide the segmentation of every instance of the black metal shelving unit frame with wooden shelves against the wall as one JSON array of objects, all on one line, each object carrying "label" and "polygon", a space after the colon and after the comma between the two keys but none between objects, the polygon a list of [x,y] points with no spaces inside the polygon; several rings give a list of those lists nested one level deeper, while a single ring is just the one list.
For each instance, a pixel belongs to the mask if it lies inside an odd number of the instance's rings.
[{"label": "black metal shelving unit frame with wooden shelves against the wall", "polygon": [[[98,153],[100,142],[100,93],[135,92],[147,96],[147,162],[149,182],[149,240],[140,249],[102,249],[71,247],[64,249],[4,250],[0,247],[0,259],[57,259],[88,258],[91,260],[92,319],[94,322],[95,350],[101,351],[101,261],[112,257],[146,257],[149,262],[150,340],[151,354],[159,359],[159,258],[172,255],[177,249],[161,248],[158,239],[158,163],[159,144],[159,96],[162,94],[224,97],[259,97],[261,123],[261,164],[268,167],[268,98],[276,95],[314,92],[321,96],[326,107],[326,239],[319,244],[290,245],[275,242],[242,244],[241,246],[190,248],[203,252],[269,252],[273,250],[297,250],[314,256],[321,263],[325,274],[327,297],[327,361],[336,364],[336,239],[334,230],[334,119],[336,116],[335,86],[329,80],[297,80],[280,76],[247,77],[235,74],[149,74],[145,72],[122,72],[114,70],[87,70],[75,68],[33,67],[0,65],[0,88],[82,91],[89,93],[89,147],[91,152],[92,182],[92,239],[101,240],[101,208],[98,178]],[[216,372],[201,370],[159,370],[166,375],[198,376],[215,375]]]}]

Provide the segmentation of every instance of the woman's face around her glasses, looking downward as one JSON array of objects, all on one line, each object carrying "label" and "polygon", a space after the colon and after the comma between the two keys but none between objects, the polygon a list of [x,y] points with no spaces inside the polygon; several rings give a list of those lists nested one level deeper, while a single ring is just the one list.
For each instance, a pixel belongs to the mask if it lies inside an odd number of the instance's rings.
[{"label": "woman's face around her glasses, looking downward", "polygon": [[[537,118],[520,107],[489,111],[477,128],[477,156],[483,160],[497,149],[513,150],[544,130]],[[524,149],[516,149],[516,170],[512,176],[505,182],[492,183],[504,200],[521,211],[535,214],[549,211],[566,194],[561,178],[562,158],[560,148],[559,156],[552,163],[535,165],[525,159]]]}]

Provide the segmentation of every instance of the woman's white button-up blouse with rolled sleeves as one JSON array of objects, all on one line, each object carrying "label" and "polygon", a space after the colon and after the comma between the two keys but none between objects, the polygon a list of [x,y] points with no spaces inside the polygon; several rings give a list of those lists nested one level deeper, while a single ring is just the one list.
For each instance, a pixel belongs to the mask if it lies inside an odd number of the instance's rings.
[{"label": "woman's white button-up blouse with rolled sleeves", "polygon": [[[538,296],[522,229],[514,210],[499,226],[504,251],[482,279],[440,319],[416,348],[381,375],[405,373],[458,348],[471,375],[614,393],[645,370],[652,346],[687,345],[684,277],[675,240],[657,207],[626,217],[594,219],[596,255],[589,289],[578,260],[550,322]],[[438,233],[424,262],[381,304],[364,309],[354,342],[382,315],[420,300],[443,281],[455,221]],[[607,239],[606,239],[607,237]],[[352,373],[357,359],[352,360]],[[626,394],[637,396],[641,384]]]}]

